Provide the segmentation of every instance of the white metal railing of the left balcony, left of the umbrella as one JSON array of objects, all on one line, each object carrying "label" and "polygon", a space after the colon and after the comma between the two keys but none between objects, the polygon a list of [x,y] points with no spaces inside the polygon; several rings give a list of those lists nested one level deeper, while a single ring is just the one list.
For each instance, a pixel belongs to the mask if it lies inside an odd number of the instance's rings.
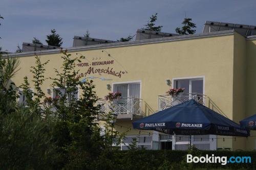
[{"label": "white metal railing of the left balcony, left of the umbrella", "polygon": [[142,115],[142,99],[118,98],[113,101],[100,100],[101,112],[115,114],[137,114]]}]

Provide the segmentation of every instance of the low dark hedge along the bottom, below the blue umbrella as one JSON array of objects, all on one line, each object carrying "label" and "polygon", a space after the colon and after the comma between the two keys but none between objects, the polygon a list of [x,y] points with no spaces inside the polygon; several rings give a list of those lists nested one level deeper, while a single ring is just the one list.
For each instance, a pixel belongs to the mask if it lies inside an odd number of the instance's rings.
[{"label": "low dark hedge along the bottom, below the blue umbrella", "polygon": [[[205,156],[250,156],[251,163],[186,163],[186,155]],[[256,152],[253,151],[113,151],[98,159],[96,169],[160,169],[166,160],[170,168],[161,169],[195,169],[195,168],[225,168],[225,169],[256,169]],[[166,163],[165,161],[165,163]],[[171,168],[173,167],[173,168]]]}]

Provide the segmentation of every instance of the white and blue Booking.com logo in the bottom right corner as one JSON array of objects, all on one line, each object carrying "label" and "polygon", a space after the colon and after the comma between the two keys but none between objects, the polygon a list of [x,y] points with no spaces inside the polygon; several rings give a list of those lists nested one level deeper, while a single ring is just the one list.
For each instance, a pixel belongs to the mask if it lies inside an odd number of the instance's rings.
[{"label": "white and blue Booking.com logo in the bottom right corner", "polygon": [[231,156],[227,158],[226,156],[214,156],[212,154],[211,156],[208,156],[208,154],[201,157],[194,156],[187,154],[187,163],[221,163],[222,165],[226,165],[227,163],[251,163],[251,157],[250,156]]}]

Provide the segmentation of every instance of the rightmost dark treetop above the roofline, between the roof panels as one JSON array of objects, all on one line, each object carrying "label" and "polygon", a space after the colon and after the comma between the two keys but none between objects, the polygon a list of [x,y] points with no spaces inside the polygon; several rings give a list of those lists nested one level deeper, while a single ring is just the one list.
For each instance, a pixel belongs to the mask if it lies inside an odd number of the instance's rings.
[{"label": "rightmost dark treetop above the roofline, between the roof panels", "polygon": [[189,34],[195,34],[196,30],[193,30],[193,28],[197,28],[196,24],[191,22],[191,18],[184,18],[182,24],[184,25],[182,28],[176,28],[176,33],[181,35],[189,35]]}]

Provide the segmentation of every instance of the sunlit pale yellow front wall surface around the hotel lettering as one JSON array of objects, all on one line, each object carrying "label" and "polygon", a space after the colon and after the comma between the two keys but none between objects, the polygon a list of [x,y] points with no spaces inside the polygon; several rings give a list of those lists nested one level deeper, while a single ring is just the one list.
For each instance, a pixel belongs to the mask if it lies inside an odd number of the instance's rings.
[{"label": "sunlit pale yellow front wall surface around the hotel lettering", "polygon": [[[207,100],[207,106],[224,113],[230,119],[235,118],[237,121],[240,116],[233,116],[233,110],[240,109],[240,106],[234,105],[237,104],[240,95],[243,95],[242,93],[237,93],[236,89],[240,88],[237,82],[244,75],[240,73],[240,69],[244,70],[244,67],[235,70],[234,73],[236,73],[236,76],[234,76],[233,66],[237,67],[240,62],[244,62],[239,58],[244,53],[244,47],[240,47],[244,43],[244,40],[237,35],[235,37],[234,35],[226,35],[186,39],[87,50],[80,51],[78,55],[76,55],[77,52],[72,52],[71,54],[74,57],[79,57],[81,54],[90,61],[108,61],[114,58],[113,65],[95,67],[107,68],[108,66],[113,66],[115,70],[127,71],[127,74],[122,75],[121,78],[107,76],[105,74],[88,75],[112,79],[106,81],[93,79],[100,98],[103,98],[104,95],[110,92],[106,89],[106,84],[112,85],[114,82],[141,81],[141,98],[144,101],[143,109],[145,109],[145,103],[147,103],[152,110],[156,111],[158,110],[158,95],[165,94],[170,88],[165,83],[166,79],[172,80],[173,78],[202,76],[205,81],[205,94],[210,99]],[[234,50],[234,44],[239,46],[238,51]],[[102,52],[102,50],[105,52]],[[46,77],[55,76],[53,68],[60,68],[60,56],[61,54],[40,56],[42,61],[50,60],[46,66]],[[96,58],[100,58],[100,60],[96,60]],[[83,59],[82,61],[88,62],[87,60]],[[29,80],[32,79],[29,69],[30,66],[34,65],[34,61],[34,56],[20,57],[20,70],[13,79],[17,85],[22,83],[22,77],[24,76],[28,76]],[[80,72],[86,72],[88,69],[88,67],[78,68]],[[50,83],[50,80],[46,80],[42,87],[46,93],[46,89],[50,87]],[[48,95],[50,96],[50,94]],[[243,109],[243,104],[241,104],[241,109],[235,111],[236,115],[240,114],[239,111],[243,111]],[[125,123],[125,125],[131,126],[131,122]],[[132,130],[129,134],[138,134],[138,131]],[[236,144],[234,143],[234,145]],[[232,140],[225,140],[225,142],[218,140],[219,147],[232,148]],[[241,146],[241,148],[243,147]]]}]

